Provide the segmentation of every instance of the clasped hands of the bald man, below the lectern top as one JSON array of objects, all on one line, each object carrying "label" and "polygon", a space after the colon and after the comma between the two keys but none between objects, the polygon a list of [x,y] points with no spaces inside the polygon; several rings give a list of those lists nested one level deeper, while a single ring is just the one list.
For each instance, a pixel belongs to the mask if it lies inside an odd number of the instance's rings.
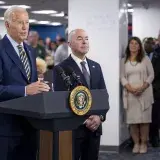
[{"label": "clasped hands of the bald man, below the lectern top", "polygon": [[99,125],[101,124],[100,117],[97,115],[90,116],[85,122],[86,127],[90,129],[91,131],[96,131]]}]

